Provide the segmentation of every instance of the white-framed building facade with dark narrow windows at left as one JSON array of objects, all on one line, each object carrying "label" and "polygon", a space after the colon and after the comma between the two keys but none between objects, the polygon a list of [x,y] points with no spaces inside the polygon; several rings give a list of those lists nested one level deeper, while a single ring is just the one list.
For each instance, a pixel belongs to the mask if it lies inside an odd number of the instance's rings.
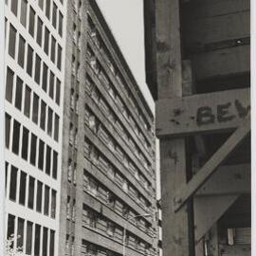
[{"label": "white-framed building facade with dark narrow windows at left", "polygon": [[58,255],[66,1],[6,0],[6,235]]}]

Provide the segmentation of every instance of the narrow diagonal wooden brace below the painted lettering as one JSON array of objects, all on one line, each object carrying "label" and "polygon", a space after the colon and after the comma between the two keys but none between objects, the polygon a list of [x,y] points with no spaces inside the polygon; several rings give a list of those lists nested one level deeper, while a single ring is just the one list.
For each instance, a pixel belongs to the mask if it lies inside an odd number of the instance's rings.
[{"label": "narrow diagonal wooden brace below the painted lettering", "polygon": [[188,184],[183,184],[178,192],[174,195],[174,210],[179,210],[187,200],[197,192],[204,183],[210,178],[217,168],[227,159],[244,140],[250,132],[250,119],[243,124],[227,139],[219,150],[210,157],[210,160],[192,177]]}]

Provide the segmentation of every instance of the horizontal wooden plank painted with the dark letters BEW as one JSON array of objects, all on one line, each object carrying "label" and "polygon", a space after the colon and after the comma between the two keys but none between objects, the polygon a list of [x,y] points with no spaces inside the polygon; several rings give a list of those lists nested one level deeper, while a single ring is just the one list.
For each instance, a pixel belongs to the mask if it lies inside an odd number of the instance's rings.
[{"label": "horizontal wooden plank painted with the dark letters BEW", "polygon": [[156,136],[231,130],[249,113],[249,89],[156,101]]}]

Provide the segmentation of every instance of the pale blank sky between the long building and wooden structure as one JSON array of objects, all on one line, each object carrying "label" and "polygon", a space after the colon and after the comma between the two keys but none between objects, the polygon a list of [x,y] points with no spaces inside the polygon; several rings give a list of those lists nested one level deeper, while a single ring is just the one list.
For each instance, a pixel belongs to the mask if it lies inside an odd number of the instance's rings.
[{"label": "pale blank sky between the long building and wooden structure", "polygon": [[[153,101],[145,79],[143,0],[96,0],[151,110]],[[156,139],[156,198],[160,198],[159,145]]]}]

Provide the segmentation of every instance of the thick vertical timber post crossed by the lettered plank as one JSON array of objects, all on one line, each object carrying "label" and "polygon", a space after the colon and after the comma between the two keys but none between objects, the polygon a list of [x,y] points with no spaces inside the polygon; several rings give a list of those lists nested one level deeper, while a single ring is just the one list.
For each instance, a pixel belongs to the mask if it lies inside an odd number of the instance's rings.
[{"label": "thick vertical timber post crossed by the lettered plank", "polygon": [[[158,100],[182,97],[179,0],[155,1],[156,74]],[[174,213],[174,192],[187,182],[186,141],[160,139],[163,255],[192,255],[187,206]]]}]

